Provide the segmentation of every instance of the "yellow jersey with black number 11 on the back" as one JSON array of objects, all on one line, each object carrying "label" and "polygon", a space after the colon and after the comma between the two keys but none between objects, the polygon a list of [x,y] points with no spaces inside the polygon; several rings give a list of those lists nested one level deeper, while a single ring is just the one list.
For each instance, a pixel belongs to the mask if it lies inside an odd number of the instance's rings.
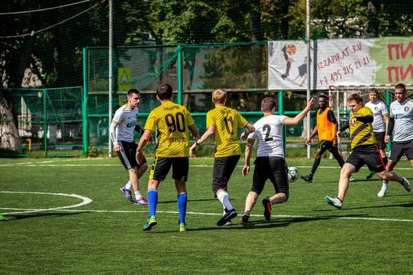
[{"label": "yellow jersey with black number 11 on the back", "polygon": [[248,121],[238,111],[225,106],[218,106],[207,113],[207,128],[215,126],[214,157],[241,155],[238,128],[244,127]]}]

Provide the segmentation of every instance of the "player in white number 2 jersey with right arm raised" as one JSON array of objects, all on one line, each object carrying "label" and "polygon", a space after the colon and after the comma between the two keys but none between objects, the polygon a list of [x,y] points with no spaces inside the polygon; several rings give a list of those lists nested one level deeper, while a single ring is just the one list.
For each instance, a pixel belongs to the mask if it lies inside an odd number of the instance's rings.
[{"label": "player in white number 2 jersey with right arm raised", "polygon": [[[275,195],[262,200],[264,205],[264,217],[267,221],[271,219],[271,209],[274,203],[283,203],[289,196],[288,186],[288,166],[284,159],[284,148],[281,136],[282,126],[297,125],[304,119],[311,107],[314,107],[314,98],[310,98],[306,108],[295,118],[288,118],[286,115],[274,115],[275,100],[264,98],[261,109],[264,117],[254,124],[255,132],[248,135],[248,143],[245,148],[245,165],[242,168],[242,175],[246,177],[250,171],[251,151],[255,140],[258,140],[257,158],[255,159],[255,169],[253,184],[245,201],[245,211],[240,221],[246,223],[258,196],[264,189],[265,182],[270,179],[275,187]],[[241,139],[244,140],[246,133],[242,133]]]}]

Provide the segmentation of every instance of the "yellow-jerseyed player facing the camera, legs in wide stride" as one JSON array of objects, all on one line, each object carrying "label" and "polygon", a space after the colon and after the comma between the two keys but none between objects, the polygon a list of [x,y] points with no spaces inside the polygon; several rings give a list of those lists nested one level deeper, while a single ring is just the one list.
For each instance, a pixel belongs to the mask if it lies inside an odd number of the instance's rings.
[{"label": "yellow-jerseyed player facing the camera, legs in wide stride", "polygon": [[325,197],[327,203],[339,209],[343,206],[343,199],[348,189],[348,177],[351,173],[358,172],[364,164],[383,180],[397,181],[406,189],[406,186],[410,186],[410,182],[403,175],[396,175],[396,173],[385,170],[385,164],[373,133],[372,110],[363,107],[363,100],[359,94],[352,94],[347,98],[347,102],[351,111],[350,120],[337,131],[337,137],[341,137],[341,132],[350,128],[352,153],[341,168],[339,194],[336,198]]}]

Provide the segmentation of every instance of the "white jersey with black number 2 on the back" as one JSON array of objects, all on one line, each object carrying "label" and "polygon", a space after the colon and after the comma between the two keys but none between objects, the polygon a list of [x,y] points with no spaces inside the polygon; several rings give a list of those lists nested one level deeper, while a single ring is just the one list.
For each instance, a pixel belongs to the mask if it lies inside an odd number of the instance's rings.
[{"label": "white jersey with black number 2 on the back", "polygon": [[255,132],[248,140],[258,140],[257,157],[284,157],[281,129],[285,115],[268,115],[254,123]]}]

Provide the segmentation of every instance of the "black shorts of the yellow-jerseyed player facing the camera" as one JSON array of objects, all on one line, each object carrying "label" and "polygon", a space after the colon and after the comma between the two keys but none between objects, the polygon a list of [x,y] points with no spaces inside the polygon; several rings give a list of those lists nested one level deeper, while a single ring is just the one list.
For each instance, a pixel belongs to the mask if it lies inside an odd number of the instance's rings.
[{"label": "black shorts of the yellow-jerseyed player facing the camera", "polygon": [[385,170],[385,164],[377,144],[357,146],[347,158],[346,163],[354,165],[356,172],[364,164],[374,173],[380,173]]}]

